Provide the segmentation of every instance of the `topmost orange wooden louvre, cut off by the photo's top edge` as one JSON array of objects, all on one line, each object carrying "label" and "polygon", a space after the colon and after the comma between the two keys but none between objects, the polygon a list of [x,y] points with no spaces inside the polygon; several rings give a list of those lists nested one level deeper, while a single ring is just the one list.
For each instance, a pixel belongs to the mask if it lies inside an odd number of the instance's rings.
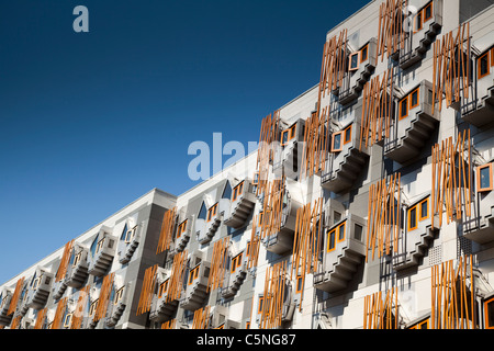
[{"label": "topmost orange wooden louvre, cut off by the photo's top edge", "polygon": [[386,0],[379,7],[379,32],[378,32],[378,57],[381,55],[381,63],[384,60],[384,53],[388,58],[404,48],[404,15],[403,11],[408,5],[408,0]]}]

